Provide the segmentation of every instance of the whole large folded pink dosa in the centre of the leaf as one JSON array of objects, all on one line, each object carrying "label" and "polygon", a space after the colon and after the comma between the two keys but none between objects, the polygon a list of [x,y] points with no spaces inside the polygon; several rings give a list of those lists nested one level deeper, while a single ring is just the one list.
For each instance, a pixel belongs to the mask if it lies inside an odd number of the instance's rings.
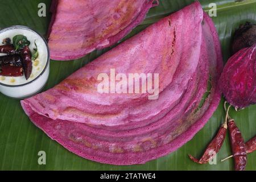
[{"label": "whole large folded pink dosa in the centre of the leaf", "polygon": [[[158,100],[98,93],[97,75],[111,68],[159,73]],[[196,2],[21,103],[31,121],[69,151],[101,163],[141,164],[181,147],[205,125],[220,101],[221,70],[216,29]]]}]

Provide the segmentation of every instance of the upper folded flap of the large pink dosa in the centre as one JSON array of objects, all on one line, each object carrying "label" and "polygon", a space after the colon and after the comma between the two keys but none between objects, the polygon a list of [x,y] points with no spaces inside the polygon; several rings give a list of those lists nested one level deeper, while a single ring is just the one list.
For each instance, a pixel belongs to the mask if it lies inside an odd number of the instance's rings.
[{"label": "upper folded flap of the large pink dosa in the centre", "polygon": [[[203,10],[200,6],[168,16],[73,73],[55,88],[26,102],[38,113],[52,119],[92,125],[145,122],[157,117],[160,111],[164,115],[179,102],[196,71],[201,49],[202,20]],[[187,36],[187,32],[190,32],[190,36]],[[186,53],[183,53],[184,50]],[[155,53],[152,54],[152,51]],[[148,94],[98,93],[97,76],[100,73],[110,75],[112,68],[117,73],[159,73],[159,99],[148,102]],[[55,99],[47,99],[49,95]],[[65,106],[61,107],[63,103]],[[159,110],[155,110],[155,107]]]}]

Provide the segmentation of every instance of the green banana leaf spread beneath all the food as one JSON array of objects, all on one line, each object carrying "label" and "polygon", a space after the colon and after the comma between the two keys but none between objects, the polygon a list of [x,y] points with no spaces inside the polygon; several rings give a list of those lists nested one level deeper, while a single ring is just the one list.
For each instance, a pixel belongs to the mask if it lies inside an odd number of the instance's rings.
[{"label": "green banana leaf spread beneath all the food", "polygon": [[[45,3],[47,16],[38,16],[38,4]],[[137,34],[160,18],[173,13],[193,0],[160,0],[159,6],[152,8],[147,18],[123,40]],[[205,11],[209,11],[209,3],[217,4],[217,16],[213,17],[221,40],[224,60],[230,57],[230,40],[234,30],[246,21],[256,23],[256,0],[202,0]],[[49,20],[50,0],[0,0],[0,28],[21,24],[34,28],[42,35],[46,35]],[[94,51],[79,60],[51,61],[51,72],[46,88],[52,88],[65,77],[71,75],[89,61],[96,59],[107,48]],[[100,164],[80,158],[63,148],[57,142],[49,139],[46,134],[30,122],[22,110],[18,100],[7,98],[0,94],[0,169],[1,170],[233,170],[232,159],[220,162],[221,159],[232,154],[228,137],[217,154],[216,164],[196,164],[188,154],[200,157],[207,144],[216,134],[224,121],[224,100],[209,120],[207,125],[195,137],[179,150],[167,156],[152,160],[143,165],[112,166]],[[256,133],[256,105],[241,111],[230,112],[242,131],[243,138],[249,140]],[[38,164],[38,152],[46,152],[46,165]],[[248,155],[246,169],[255,170],[256,152]]]}]

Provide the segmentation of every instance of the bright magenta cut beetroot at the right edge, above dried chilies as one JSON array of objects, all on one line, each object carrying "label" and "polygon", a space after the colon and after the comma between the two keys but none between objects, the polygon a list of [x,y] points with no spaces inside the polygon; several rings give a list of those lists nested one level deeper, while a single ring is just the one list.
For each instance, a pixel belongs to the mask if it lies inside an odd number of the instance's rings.
[{"label": "bright magenta cut beetroot at the right edge, above dried chilies", "polygon": [[256,44],[230,57],[220,78],[226,101],[243,108],[256,103]]}]

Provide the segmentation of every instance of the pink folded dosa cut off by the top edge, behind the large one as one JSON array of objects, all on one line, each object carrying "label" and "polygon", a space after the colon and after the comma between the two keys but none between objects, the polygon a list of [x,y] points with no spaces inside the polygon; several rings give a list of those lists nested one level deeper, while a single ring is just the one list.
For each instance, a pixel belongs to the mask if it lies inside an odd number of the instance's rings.
[{"label": "pink folded dosa cut off by the top edge, behind the large one", "polygon": [[154,0],[54,0],[48,31],[51,59],[79,59],[112,46],[156,5]]}]

